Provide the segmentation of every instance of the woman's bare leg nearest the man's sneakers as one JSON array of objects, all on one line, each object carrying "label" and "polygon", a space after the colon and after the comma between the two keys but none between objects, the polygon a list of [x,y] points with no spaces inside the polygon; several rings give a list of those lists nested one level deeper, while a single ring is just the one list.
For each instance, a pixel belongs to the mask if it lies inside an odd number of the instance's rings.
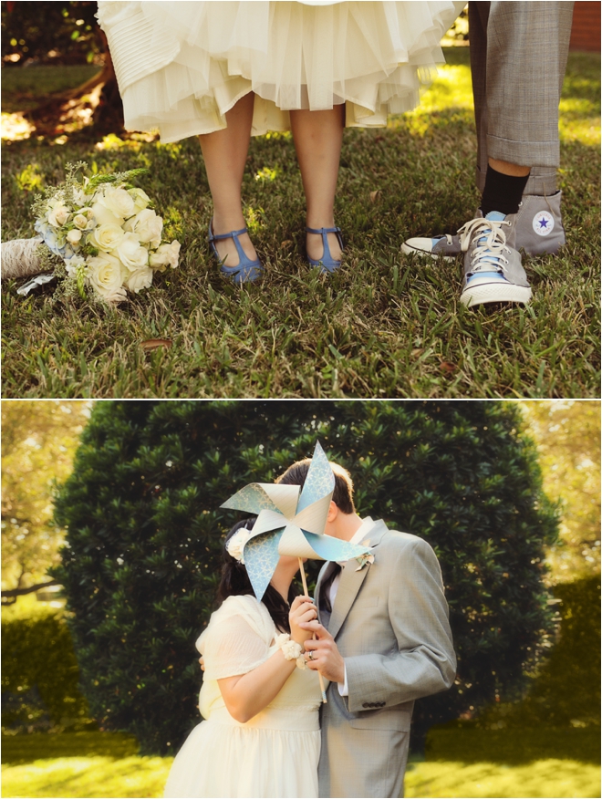
[{"label": "woman's bare leg nearest the man's sneakers", "polygon": [[[335,192],[337,191],[338,161],[343,143],[345,106],[332,110],[291,111],[291,129],[295,140],[303,189],[306,192],[307,227],[334,227]],[[341,257],[337,236],[328,233],[330,254]],[[324,255],[322,237],[306,233],[307,254],[319,260]]]}]

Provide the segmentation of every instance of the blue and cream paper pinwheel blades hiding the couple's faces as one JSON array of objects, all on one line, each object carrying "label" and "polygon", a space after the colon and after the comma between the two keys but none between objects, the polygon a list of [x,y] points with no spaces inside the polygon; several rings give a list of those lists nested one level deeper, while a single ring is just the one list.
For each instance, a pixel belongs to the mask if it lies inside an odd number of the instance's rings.
[{"label": "blue and cream paper pinwheel blades hiding the couple's faces", "polygon": [[249,483],[223,503],[223,508],[257,514],[243,554],[244,566],[259,601],[280,555],[349,560],[369,551],[367,546],[349,544],[324,534],[334,490],[335,475],[318,442],[300,493],[298,485]]}]

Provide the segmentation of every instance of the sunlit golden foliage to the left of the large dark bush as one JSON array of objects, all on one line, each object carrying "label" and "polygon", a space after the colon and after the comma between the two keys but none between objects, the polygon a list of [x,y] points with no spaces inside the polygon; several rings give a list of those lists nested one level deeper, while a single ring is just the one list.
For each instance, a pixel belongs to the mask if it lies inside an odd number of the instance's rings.
[{"label": "sunlit golden foliage to the left of the large dark bush", "polygon": [[3,589],[39,582],[59,561],[53,486],[71,471],[88,414],[88,403],[75,400],[2,403]]}]

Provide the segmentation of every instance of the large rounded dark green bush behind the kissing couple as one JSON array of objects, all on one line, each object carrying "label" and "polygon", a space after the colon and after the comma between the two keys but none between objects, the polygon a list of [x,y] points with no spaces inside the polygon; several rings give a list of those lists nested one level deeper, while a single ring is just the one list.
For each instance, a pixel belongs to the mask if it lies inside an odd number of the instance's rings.
[{"label": "large rounded dark green bush behind the kissing couple", "polygon": [[198,721],[194,640],[238,518],[219,506],[245,483],[273,481],[317,439],[352,473],[360,514],[420,535],[440,558],[458,678],[417,704],[417,737],[520,690],[551,628],[542,577],[557,519],[516,406],[103,402],[57,497],[68,532],[54,574],[104,728],[173,752]]}]

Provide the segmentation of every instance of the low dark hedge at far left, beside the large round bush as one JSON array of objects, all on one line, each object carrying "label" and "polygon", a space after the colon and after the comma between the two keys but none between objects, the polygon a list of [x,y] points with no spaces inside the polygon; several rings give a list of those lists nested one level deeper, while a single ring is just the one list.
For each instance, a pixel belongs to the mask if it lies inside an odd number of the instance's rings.
[{"label": "low dark hedge at far left, beside the large round bush", "polygon": [[[8,614],[7,614],[8,616]],[[2,723],[17,732],[78,728],[88,704],[65,612],[39,608],[2,620]]]}]

